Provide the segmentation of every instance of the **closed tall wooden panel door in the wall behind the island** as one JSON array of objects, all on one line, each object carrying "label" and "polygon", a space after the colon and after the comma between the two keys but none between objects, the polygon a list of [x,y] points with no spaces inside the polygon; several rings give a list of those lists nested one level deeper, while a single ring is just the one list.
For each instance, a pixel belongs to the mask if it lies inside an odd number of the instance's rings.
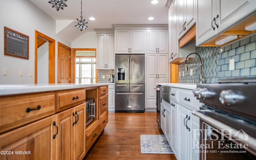
[{"label": "closed tall wooden panel door in the wall behind the island", "polygon": [[58,83],[71,83],[71,48],[58,42]]}]

